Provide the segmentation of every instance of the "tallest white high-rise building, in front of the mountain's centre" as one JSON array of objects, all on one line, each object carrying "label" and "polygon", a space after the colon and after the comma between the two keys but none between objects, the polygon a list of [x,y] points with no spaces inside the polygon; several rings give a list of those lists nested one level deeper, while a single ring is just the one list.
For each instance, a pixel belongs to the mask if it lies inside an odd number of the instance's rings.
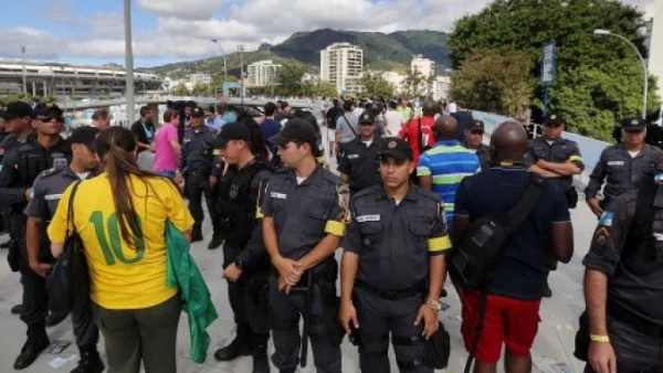
[{"label": "tallest white high-rise building, in front of the mountain's centre", "polygon": [[358,93],[364,73],[364,51],[350,43],[334,43],[320,51],[320,81],[329,82],[339,93]]}]

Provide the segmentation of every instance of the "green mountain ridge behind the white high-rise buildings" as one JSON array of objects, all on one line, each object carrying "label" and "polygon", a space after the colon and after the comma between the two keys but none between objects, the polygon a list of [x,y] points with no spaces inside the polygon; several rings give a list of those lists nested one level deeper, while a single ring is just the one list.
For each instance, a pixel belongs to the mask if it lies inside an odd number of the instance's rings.
[{"label": "green mountain ridge behind the white high-rise buildings", "polygon": [[[296,32],[278,45],[263,44],[257,51],[244,52],[244,65],[260,60],[274,60],[278,63],[297,61],[318,67],[320,50],[329,44],[348,42],[364,50],[365,67],[371,70],[404,71],[410,66],[414,54],[435,61],[438,72],[451,66],[446,34],[440,31],[412,30],[389,34],[381,32],[358,32],[320,29],[312,32]],[[225,56],[229,75],[240,75],[239,53]],[[192,62],[179,62],[150,68],[152,72],[172,77],[186,74],[219,73],[223,71],[223,58],[211,57]]]}]

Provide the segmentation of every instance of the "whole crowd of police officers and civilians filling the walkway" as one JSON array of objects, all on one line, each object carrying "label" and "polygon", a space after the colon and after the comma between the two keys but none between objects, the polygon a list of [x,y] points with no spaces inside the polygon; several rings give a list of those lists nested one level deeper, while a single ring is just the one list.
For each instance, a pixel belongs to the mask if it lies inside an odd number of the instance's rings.
[{"label": "whole crowd of police officers and civilians filling the walkway", "polygon": [[[415,106],[333,99],[320,121],[286,102],[267,103],[261,117],[178,102],[159,126],[149,107],[130,129],[99,110],[64,139],[57,106],[10,103],[0,205],[23,289],[12,312],[27,326],[13,367],[30,366],[50,343],[46,327],[67,317],[49,310],[48,281],[75,231],[91,302],[71,312],[81,354],[72,373],[175,372],[191,300],[169,286],[165,232],[202,242],[207,215],[236,324],[218,361],[251,355],[253,372],[270,372],[271,338],[273,365],[295,372],[309,340],[317,371],[341,372],[349,335],[362,372],[390,372],[390,344],[401,372],[432,372],[431,345],[449,354],[438,342],[449,274],[474,372],[496,372],[503,350],[506,372],[530,372],[549,273],[573,256],[580,149],[564,138],[561,113],[548,113],[533,139],[528,119],[501,124],[486,146],[465,103]],[[599,221],[576,341],[588,372],[663,369],[663,152],[645,137],[640,119],[624,119],[623,141],[603,150],[583,194]],[[150,170],[138,164],[143,152],[154,153]],[[481,267],[491,251],[498,256]]]}]

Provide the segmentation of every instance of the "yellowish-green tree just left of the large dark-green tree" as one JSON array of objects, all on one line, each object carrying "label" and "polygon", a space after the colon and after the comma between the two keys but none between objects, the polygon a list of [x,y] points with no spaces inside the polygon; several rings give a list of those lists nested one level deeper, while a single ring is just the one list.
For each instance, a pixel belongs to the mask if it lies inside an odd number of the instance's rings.
[{"label": "yellowish-green tree just left of the large dark-green tree", "polygon": [[473,108],[491,113],[518,114],[532,96],[532,61],[514,47],[478,50],[451,75],[450,94]]}]

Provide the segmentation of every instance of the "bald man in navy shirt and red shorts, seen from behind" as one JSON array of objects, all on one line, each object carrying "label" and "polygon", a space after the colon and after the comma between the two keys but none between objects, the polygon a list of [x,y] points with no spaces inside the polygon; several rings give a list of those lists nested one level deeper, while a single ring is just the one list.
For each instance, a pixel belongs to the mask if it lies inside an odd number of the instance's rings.
[{"label": "bald man in navy shirt and red shorts, seen from behind", "polygon": [[[474,220],[504,216],[522,199],[529,181],[523,168],[527,151],[527,132],[516,122],[504,122],[491,138],[495,167],[463,179],[459,185],[454,209],[454,243],[462,243],[467,226]],[[461,332],[467,352],[472,352],[478,322],[483,329],[476,344],[475,373],[496,372],[503,345],[506,347],[505,371],[532,371],[529,350],[538,330],[539,306],[547,271],[544,270],[549,235],[552,254],[568,263],[573,254],[573,231],[565,191],[546,183],[529,215],[515,227],[506,241],[506,252],[490,275],[482,291],[464,292]],[[486,294],[485,317],[480,317],[480,302]]]}]

